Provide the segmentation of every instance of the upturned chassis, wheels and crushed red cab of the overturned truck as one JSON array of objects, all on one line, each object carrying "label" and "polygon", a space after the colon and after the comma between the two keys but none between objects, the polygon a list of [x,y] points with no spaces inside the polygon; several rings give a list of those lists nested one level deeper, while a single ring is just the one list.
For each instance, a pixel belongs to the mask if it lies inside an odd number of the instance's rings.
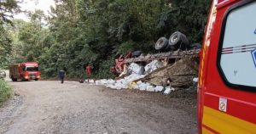
[{"label": "upturned chassis, wheels and crushed red cab of the overturned truck", "polygon": [[176,31],[170,36],[169,40],[166,37],[160,37],[155,43],[154,48],[159,53],[143,55],[142,52],[129,52],[125,56],[120,55],[119,59],[115,59],[115,67],[110,69],[115,75],[124,75],[125,67],[131,63],[146,65],[154,60],[163,61],[164,64],[173,64],[183,57],[199,57],[201,44],[190,44],[187,36]]}]

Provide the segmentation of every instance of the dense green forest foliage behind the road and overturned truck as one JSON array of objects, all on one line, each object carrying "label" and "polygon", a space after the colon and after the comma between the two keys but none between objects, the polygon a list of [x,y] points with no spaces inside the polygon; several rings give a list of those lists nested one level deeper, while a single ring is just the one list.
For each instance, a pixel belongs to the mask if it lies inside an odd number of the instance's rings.
[{"label": "dense green forest foliage behind the road and overturned truck", "polygon": [[[201,42],[210,1],[205,0],[55,0],[49,16],[35,11],[31,22],[15,20],[10,33],[13,62],[38,61],[44,76],[65,68],[69,77],[111,77],[119,53],[155,53],[154,42],[174,31]],[[47,21],[47,26],[42,21]]]}]

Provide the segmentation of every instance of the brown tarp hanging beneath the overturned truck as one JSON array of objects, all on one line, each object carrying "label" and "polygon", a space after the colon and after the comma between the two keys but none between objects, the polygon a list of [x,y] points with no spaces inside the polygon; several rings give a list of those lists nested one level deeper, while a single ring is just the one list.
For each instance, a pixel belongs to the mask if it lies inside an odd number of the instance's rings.
[{"label": "brown tarp hanging beneath the overturned truck", "polygon": [[185,57],[174,64],[154,70],[139,81],[145,81],[154,86],[166,87],[170,84],[172,87],[189,87],[197,75],[198,65],[196,57]]}]

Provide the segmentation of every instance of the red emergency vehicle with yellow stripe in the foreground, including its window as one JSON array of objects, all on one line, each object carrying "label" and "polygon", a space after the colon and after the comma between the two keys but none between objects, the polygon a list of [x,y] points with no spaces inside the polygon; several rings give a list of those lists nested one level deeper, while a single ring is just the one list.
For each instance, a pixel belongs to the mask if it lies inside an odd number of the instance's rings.
[{"label": "red emergency vehicle with yellow stripe in the foreground, including its window", "polygon": [[199,133],[256,133],[255,15],[255,0],[213,0],[201,49]]}]

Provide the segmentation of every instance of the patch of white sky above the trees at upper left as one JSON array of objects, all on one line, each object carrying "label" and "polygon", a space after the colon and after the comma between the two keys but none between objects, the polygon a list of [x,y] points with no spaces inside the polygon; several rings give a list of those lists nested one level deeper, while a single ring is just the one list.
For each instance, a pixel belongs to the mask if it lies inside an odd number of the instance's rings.
[{"label": "patch of white sky above the trees at upper left", "polygon": [[[41,9],[44,14],[48,14],[51,5],[55,5],[54,0],[23,0],[23,3],[19,4],[21,10],[34,11],[35,9]],[[24,13],[15,14],[14,18],[29,21]]]}]

